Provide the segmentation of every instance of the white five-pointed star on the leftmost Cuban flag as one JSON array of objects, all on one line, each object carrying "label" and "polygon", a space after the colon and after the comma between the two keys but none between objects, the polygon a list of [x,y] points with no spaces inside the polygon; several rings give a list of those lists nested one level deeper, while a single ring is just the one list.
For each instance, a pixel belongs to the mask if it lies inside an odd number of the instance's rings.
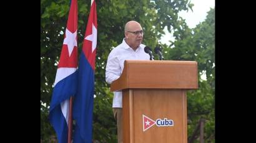
[{"label": "white five-pointed star on the leftmost Cuban flag", "polygon": [[67,45],[67,48],[69,50],[69,57],[74,49],[74,46],[77,46],[76,33],[77,33],[77,30],[76,32],[72,33],[69,31],[69,29],[66,29],[66,32],[65,32],[66,38],[64,39],[63,44]]}]

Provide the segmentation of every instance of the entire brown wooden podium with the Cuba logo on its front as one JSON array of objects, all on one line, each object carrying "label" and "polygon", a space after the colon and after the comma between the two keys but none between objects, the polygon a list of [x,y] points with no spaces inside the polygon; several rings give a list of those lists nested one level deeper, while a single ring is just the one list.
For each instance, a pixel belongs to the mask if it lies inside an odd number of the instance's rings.
[{"label": "entire brown wooden podium with the Cuba logo on its front", "polygon": [[197,88],[197,62],[126,60],[111,84],[122,90],[124,143],[187,142],[186,90]]}]

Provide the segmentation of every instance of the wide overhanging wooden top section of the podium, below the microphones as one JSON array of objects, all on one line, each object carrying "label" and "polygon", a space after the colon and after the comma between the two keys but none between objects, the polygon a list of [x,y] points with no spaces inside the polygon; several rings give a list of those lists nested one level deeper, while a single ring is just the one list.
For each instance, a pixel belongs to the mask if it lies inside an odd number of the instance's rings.
[{"label": "wide overhanging wooden top section of the podium, below the microphones", "polygon": [[175,60],[126,60],[111,91],[128,88],[197,89],[197,62]]}]

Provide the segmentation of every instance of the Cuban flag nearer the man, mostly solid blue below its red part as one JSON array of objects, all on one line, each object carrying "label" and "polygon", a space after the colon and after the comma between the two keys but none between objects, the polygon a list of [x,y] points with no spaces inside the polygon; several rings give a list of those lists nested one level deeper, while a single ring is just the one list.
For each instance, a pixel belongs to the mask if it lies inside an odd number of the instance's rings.
[{"label": "Cuban flag nearer the man, mostly solid blue below its red part", "polygon": [[84,35],[78,67],[77,93],[74,97],[73,118],[74,143],[92,142],[92,110],[94,100],[94,70],[97,45],[96,2],[91,1],[91,10]]}]

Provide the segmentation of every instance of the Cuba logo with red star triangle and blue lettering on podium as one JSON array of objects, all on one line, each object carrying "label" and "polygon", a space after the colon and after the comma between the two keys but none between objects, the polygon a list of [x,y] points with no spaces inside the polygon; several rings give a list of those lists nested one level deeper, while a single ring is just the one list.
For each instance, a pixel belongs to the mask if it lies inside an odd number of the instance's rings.
[{"label": "Cuba logo with red star triangle and blue lettering on podium", "polygon": [[166,126],[174,126],[174,121],[172,119],[157,119],[157,120],[152,120],[149,117],[145,116],[142,114],[142,119],[143,119],[143,131],[145,132],[147,129],[150,127],[156,125],[158,127],[166,127]]}]

